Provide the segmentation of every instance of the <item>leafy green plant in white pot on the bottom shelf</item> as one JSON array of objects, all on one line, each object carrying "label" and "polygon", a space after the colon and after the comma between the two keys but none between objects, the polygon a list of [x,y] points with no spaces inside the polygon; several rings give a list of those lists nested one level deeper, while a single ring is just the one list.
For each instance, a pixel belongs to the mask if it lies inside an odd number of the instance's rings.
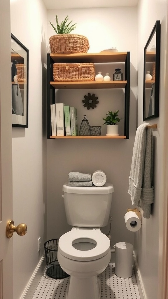
[{"label": "leafy green plant in white pot on the bottom shelf", "polygon": [[102,118],[103,120],[105,120],[105,123],[107,125],[107,136],[111,135],[111,136],[118,136],[118,125],[116,125],[116,123],[119,123],[121,119],[123,118],[119,118],[118,117],[118,112],[119,110],[116,110],[115,112],[113,111],[109,111],[106,115],[106,118]]}]

